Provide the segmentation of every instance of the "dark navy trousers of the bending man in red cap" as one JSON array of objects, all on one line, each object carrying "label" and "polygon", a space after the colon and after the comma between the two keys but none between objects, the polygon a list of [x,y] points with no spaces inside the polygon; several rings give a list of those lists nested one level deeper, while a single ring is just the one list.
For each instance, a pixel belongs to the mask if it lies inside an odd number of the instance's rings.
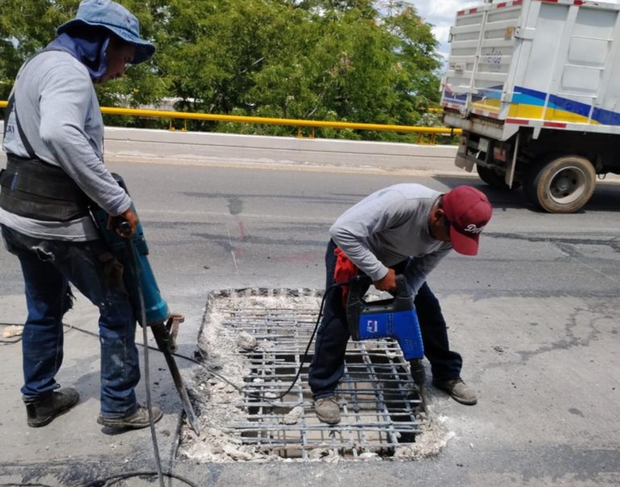
[{"label": "dark navy trousers of the bending man in red cap", "polygon": [[[327,245],[325,269],[327,283],[325,289],[334,284],[336,257],[333,241]],[[394,266],[397,274],[405,273],[409,260]],[[448,343],[446,321],[441,314],[439,301],[427,283],[420,287],[414,299],[415,311],[420,321],[424,354],[430,362],[433,382],[456,379],[461,375],[463,359]],[[310,364],[308,382],[312,397],[318,399],[334,394],[345,369],[345,353],[351,334],[347,323],[347,311],[342,304],[342,288],[332,287],[327,291],[321,326],[314,343],[314,357]]]}]

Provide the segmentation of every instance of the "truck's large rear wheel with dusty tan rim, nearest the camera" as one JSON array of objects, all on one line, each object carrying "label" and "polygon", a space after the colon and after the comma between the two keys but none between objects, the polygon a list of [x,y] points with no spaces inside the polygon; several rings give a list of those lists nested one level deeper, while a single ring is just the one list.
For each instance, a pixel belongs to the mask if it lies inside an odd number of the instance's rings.
[{"label": "truck's large rear wheel with dusty tan rim, nearest the camera", "polygon": [[596,170],[581,156],[559,156],[533,165],[526,174],[526,198],[549,213],[574,213],[590,200]]}]

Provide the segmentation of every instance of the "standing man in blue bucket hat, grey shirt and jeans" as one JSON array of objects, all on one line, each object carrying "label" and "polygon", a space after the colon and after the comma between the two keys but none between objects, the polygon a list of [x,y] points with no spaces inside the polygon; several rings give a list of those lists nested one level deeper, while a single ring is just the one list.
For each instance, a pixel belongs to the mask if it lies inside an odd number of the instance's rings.
[{"label": "standing man in blue bucket hat, grey shirt and jeans", "polygon": [[[58,37],[28,59],[9,97],[0,173],[0,226],[19,258],[28,316],[23,333],[27,423],[45,426],[79,401],[60,388],[63,315],[72,284],[99,308],[100,415],[110,428],[144,428],[148,410],[136,401],[140,379],[135,310],[122,266],[100,239],[89,207],[122,217],[135,232],[131,200],[103,162],[104,121],[93,83],[125,74],[153,56],[136,17],[110,0],[86,0]],[[161,410],[151,410],[153,421]]]}]

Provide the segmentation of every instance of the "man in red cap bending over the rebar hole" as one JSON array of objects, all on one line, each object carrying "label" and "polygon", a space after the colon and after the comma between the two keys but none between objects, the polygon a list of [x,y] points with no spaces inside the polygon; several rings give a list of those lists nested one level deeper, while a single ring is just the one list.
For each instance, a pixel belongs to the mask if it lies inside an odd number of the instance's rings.
[{"label": "man in red cap bending over the rebar hole", "polygon": [[491,215],[487,197],[471,186],[442,194],[418,184],[399,184],[376,191],[337,219],[329,230],[327,296],[309,370],[314,409],[322,422],[340,422],[335,388],[350,338],[347,289],[330,286],[358,273],[370,276],[379,291],[396,291],[396,274],[404,274],[414,294],[433,385],[459,403],[476,404],[476,393],[461,379],[463,359],[449,348],[446,322],[426,280],[451,249],[476,255],[480,232]]}]

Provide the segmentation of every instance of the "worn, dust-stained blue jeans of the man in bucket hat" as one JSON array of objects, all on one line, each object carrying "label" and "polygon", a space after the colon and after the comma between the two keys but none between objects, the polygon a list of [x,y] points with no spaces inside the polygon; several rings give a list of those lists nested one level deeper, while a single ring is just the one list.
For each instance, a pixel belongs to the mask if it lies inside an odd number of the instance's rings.
[{"label": "worn, dust-stained blue jeans of the man in bucket hat", "polygon": [[55,375],[63,362],[62,320],[71,308],[71,283],[100,312],[101,414],[113,418],[133,413],[138,407],[134,388],[140,379],[136,320],[118,261],[102,262],[107,249],[100,240],[34,239],[6,226],[2,237],[24,274],[28,308],[22,336],[24,398],[60,387]]}]

